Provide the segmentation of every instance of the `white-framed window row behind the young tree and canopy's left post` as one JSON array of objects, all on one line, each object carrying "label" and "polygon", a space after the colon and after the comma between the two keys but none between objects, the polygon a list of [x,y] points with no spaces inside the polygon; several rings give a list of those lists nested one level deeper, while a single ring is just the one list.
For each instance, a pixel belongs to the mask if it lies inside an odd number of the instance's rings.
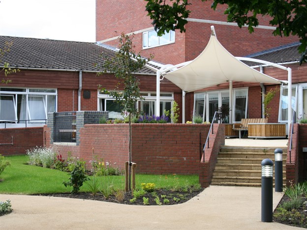
[{"label": "white-framed window row behind the young tree and canopy's left post", "polygon": [[[145,100],[139,101],[135,105],[136,108],[144,115],[155,115],[156,93],[142,92],[141,95]],[[160,93],[160,116],[164,115],[165,110],[171,110],[173,100],[173,93]],[[111,119],[123,119],[123,107],[119,103],[116,103],[114,98],[98,91],[98,101],[99,111],[109,111],[109,118]]]}]

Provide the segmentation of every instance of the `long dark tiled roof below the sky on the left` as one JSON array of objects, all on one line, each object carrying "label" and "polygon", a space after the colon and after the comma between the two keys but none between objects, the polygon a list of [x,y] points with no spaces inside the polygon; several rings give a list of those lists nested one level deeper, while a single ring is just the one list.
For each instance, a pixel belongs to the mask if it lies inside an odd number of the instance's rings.
[{"label": "long dark tiled roof below the sky on the left", "polygon": [[[10,52],[3,61],[12,67],[48,68],[65,70],[99,71],[94,63],[101,63],[102,56],[112,58],[116,51],[111,47],[100,46],[92,42],[61,41],[25,37],[0,36],[0,48],[5,42],[13,42]],[[148,68],[141,74],[155,74]]]}]

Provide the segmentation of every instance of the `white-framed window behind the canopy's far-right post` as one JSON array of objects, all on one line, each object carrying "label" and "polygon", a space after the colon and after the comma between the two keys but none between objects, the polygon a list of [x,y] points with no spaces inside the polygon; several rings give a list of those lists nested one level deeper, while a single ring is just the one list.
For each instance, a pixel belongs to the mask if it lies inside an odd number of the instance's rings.
[{"label": "white-framed window behind the canopy's far-right post", "polygon": [[[294,111],[297,109],[297,85],[292,85],[292,100],[291,106]],[[297,114],[298,115],[298,114]],[[280,86],[280,100],[279,100],[279,115],[278,122],[288,122],[288,87]]]}]

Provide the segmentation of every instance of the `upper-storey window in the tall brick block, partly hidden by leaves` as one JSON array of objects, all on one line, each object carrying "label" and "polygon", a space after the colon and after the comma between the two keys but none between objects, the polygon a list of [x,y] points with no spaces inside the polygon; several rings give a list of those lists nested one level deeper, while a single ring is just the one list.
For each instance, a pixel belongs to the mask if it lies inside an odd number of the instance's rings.
[{"label": "upper-storey window in the tall brick block, partly hidden by leaves", "polygon": [[175,31],[158,36],[155,30],[143,32],[143,49],[175,42]]}]

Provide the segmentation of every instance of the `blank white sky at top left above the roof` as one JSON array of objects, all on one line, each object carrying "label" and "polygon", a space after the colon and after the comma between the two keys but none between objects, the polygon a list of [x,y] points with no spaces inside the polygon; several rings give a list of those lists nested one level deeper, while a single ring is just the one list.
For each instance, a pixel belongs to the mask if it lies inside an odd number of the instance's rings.
[{"label": "blank white sky at top left above the roof", "polygon": [[95,0],[0,0],[0,35],[95,42]]}]

